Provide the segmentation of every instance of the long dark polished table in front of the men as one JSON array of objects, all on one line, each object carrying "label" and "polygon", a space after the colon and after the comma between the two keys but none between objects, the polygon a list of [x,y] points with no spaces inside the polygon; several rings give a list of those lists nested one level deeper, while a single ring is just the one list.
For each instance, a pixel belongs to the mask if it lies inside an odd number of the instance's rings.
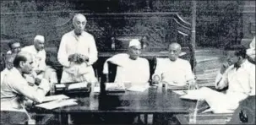
[{"label": "long dark polished table in front of the men", "polygon": [[37,113],[60,115],[63,124],[68,123],[68,114],[83,113],[133,113],[133,114],[188,114],[195,101],[182,100],[180,95],[165,88],[150,87],[144,92],[106,93],[74,96],[77,106],[66,106],[47,111],[36,109]]}]

